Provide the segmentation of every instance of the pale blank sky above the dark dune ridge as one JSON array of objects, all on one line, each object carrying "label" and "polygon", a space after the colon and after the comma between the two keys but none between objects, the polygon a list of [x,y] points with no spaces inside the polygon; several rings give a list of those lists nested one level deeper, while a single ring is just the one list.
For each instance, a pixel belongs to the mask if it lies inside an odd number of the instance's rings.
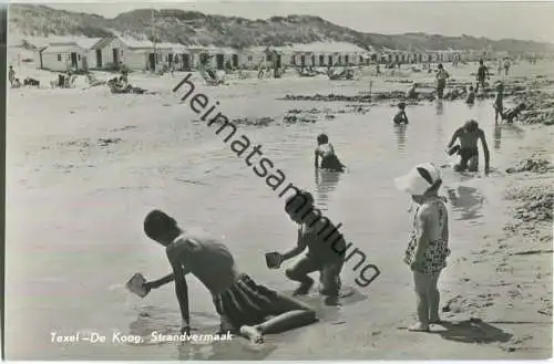
[{"label": "pale blank sky above the dark dune ridge", "polygon": [[[105,0],[104,0],[105,1]],[[37,2],[29,1],[29,2]],[[75,1],[51,4],[55,9],[92,12],[114,18],[141,8],[195,10],[209,14],[267,19],[273,15],[310,14],[362,32],[398,34],[425,32],[442,35],[513,38],[554,43],[554,1]]]}]

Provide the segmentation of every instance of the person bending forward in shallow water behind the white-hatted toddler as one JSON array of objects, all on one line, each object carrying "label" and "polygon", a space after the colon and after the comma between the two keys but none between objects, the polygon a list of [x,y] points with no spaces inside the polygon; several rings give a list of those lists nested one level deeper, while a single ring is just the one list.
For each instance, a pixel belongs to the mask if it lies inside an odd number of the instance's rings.
[{"label": "person bending forward in shallow water behind the white-hatted toddler", "polygon": [[[454,143],[460,139],[460,145],[452,148]],[[484,132],[479,127],[476,121],[468,121],[462,127],[458,128],[452,136],[447,148],[449,155],[458,153],[460,162],[454,166],[455,171],[478,171],[479,170],[479,147],[478,142],[481,139],[485,158],[485,174],[489,174],[489,146]]]}]

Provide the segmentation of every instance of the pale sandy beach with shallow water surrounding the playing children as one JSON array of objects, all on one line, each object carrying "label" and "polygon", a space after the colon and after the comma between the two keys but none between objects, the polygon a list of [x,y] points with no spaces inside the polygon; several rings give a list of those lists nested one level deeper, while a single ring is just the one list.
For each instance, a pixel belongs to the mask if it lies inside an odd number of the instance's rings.
[{"label": "pale sandy beach with shallow water surrounding the playing children", "polygon": [[[449,90],[474,82],[474,64],[445,66],[454,79]],[[511,90],[521,86],[509,94],[510,105],[512,97],[536,90],[552,92],[553,70],[552,63],[522,62],[509,77],[492,81],[502,79]],[[492,98],[473,107],[456,97],[421,100],[409,103],[410,125],[400,129],[392,125],[398,100],[391,93],[403,93],[411,82],[431,85],[433,75],[403,70],[375,77],[371,72],[357,70],[353,81],[229,77],[223,86],[206,86],[193,75],[197,87],[220,103],[219,110],[291,183],[311,190],[318,207],[343,223],[347,240],[382,270],[372,284],[359,288],[347,263],[343,281],[356,294],[329,308],[314,292],[304,301],[317,309],[319,323],[269,335],[254,350],[242,339],[196,345],[51,342],[52,332],[147,336],[178,331],[172,287],[144,300],[124,287],[134,272],[158,278],[170,270],[164,251],[142,231],[152,208],[223,237],[245,271],[286,293],[294,283],[283,270],[266,269],[264,252],[291,247],[296,228],[283,199],[172,93],[186,73],[131,73],[133,85],[156,94],[115,95],[106,86],[89,89],[84,80],[75,89],[49,89],[54,73],[19,69],[43,86],[8,93],[7,358],[551,357],[554,126],[544,124],[553,119],[552,106],[537,102],[530,112],[535,112],[534,124],[495,125]],[[379,100],[379,94],[387,96]],[[372,97],[356,98],[363,95]],[[469,118],[480,122],[489,139],[493,173],[488,177],[447,167],[444,147]],[[340,178],[314,178],[315,138],[324,132],[350,169]],[[525,159],[534,162],[521,164]],[[541,159],[546,163],[537,165]],[[451,209],[452,256],[440,281],[447,323],[433,325],[431,333],[409,333],[416,299],[402,253],[410,200],[392,180],[427,160],[444,166],[442,194]],[[522,166],[527,170],[510,169]],[[218,318],[208,292],[189,281],[193,326],[215,331]]]}]

